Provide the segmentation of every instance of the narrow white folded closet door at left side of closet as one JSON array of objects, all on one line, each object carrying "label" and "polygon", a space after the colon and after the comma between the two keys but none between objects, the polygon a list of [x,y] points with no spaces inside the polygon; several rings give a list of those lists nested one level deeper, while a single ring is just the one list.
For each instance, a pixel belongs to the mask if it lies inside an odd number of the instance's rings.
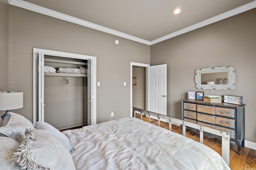
[{"label": "narrow white folded closet door at left side of closet", "polygon": [[44,53],[38,56],[38,121],[44,121]]}]

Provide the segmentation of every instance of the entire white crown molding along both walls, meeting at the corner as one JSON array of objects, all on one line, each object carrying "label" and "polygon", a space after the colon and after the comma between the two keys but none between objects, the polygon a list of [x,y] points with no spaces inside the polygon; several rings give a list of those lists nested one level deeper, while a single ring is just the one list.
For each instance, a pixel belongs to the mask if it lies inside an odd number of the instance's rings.
[{"label": "entire white crown molding along both walls, meeting at the corner", "polygon": [[189,27],[186,27],[184,29],[180,29],[180,30],[178,30],[174,33],[170,33],[168,35],[165,35],[165,36],[160,37],[158,39],[155,39],[153,41],[147,41],[145,39],[141,39],[141,38],[138,38],[138,37],[134,37],[132,35],[128,35],[126,33],[122,33],[120,31],[116,31],[114,29],[103,27],[101,25],[97,25],[97,24],[92,23],[92,22],[81,20],[79,18],[75,18],[75,17],[69,16],[69,15],[60,13],[60,12],[56,12],[56,11],[50,10],[48,8],[44,8],[44,7],[35,5],[35,4],[31,4],[31,3],[23,1],[23,0],[8,0],[8,3],[11,4],[11,5],[14,5],[14,6],[18,6],[20,8],[24,8],[24,9],[31,10],[31,11],[34,11],[34,12],[38,12],[40,14],[44,14],[44,15],[51,16],[51,17],[54,17],[54,18],[58,18],[60,20],[76,23],[78,25],[82,25],[82,26],[85,26],[85,27],[96,29],[98,31],[102,31],[102,32],[105,32],[105,33],[110,33],[112,35],[116,35],[116,36],[119,36],[119,37],[130,39],[132,41],[136,41],[136,42],[143,43],[143,44],[146,44],[146,45],[153,45],[153,44],[159,43],[161,41],[165,41],[165,40],[170,39],[172,37],[176,37],[178,35],[181,35],[181,34],[189,32],[189,31],[192,31],[194,29],[204,27],[204,26],[209,25],[211,23],[214,23],[214,22],[217,22],[217,21],[220,21],[220,20],[224,20],[224,19],[229,18],[231,16],[234,16],[236,14],[240,14],[242,12],[245,12],[245,11],[251,10],[253,8],[256,8],[256,0],[254,0],[250,3],[248,3],[248,4],[245,4],[243,6],[235,8],[235,9],[230,10],[228,12],[224,12],[224,13],[218,15],[218,16],[214,16],[212,18],[201,21],[199,23],[196,23],[196,24],[191,25]]}]

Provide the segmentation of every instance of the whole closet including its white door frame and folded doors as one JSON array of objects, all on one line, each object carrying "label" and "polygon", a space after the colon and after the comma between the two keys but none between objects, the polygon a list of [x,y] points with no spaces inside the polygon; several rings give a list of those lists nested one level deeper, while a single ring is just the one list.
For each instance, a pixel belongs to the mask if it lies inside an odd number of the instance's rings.
[{"label": "whole closet including its white door frame and folded doors", "polygon": [[63,130],[96,123],[96,57],[34,49],[33,123]]}]

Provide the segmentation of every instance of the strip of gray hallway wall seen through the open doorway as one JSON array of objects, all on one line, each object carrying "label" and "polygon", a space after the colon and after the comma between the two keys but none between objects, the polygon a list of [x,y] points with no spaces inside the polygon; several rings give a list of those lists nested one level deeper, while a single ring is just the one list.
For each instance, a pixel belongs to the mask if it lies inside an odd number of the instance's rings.
[{"label": "strip of gray hallway wall seen through the open doorway", "polygon": [[132,66],[132,77],[137,78],[137,85],[132,86],[132,106],[146,109],[146,67]]}]

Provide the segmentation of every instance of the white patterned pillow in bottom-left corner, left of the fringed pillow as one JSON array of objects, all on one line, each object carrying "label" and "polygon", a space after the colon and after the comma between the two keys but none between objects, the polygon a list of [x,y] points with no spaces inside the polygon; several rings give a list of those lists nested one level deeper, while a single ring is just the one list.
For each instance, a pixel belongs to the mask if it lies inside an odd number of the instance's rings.
[{"label": "white patterned pillow in bottom-left corner, left of the fringed pillow", "polygon": [[21,170],[16,164],[18,158],[13,158],[13,153],[17,152],[19,143],[9,137],[0,137],[0,169],[1,170]]}]

